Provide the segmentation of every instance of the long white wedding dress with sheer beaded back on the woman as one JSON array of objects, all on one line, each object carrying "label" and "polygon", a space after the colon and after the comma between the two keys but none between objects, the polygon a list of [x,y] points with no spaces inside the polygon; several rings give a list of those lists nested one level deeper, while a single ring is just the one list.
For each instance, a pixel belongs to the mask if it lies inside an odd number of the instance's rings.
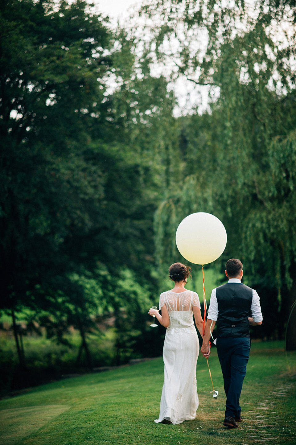
[{"label": "long white wedding dress with sheer beaded back on the woman", "polygon": [[159,309],[166,305],[170,324],[163,345],[164,382],[160,401],[159,423],[172,424],[195,419],[199,406],[196,388],[196,362],[199,340],[192,317],[192,307],[200,307],[196,292],[162,292]]}]

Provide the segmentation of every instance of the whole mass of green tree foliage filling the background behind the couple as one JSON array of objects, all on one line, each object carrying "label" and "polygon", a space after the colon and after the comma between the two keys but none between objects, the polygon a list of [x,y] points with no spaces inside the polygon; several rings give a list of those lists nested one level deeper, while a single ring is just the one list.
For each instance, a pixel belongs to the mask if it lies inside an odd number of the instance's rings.
[{"label": "whole mass of green tree foliage filling the background behind the couple", "polygon": [[[293,2],[152,1],[141,32],[111,32],[80,0],[2,6],[1,311],[20,362],[26,334],[43,326],[69,348],[72,326],[91,368],[110,313],[117,363],[160,354],[146,312],[195,211],[223,221],[222,261],[243,260],[272,308],[264,335],[283,336],[296,298]],[[179,76],[208,89],[203,115],[173,117]]]}]

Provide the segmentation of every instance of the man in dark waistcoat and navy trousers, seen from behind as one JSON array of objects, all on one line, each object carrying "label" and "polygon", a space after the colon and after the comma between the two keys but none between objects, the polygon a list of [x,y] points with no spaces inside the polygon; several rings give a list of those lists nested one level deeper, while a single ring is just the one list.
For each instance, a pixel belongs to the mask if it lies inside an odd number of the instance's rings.
[{"label": "man in dark waistcoat and navy trousers, seen from behind", "polygon": [[242,420],[239,396],[250,353],[249,324],[260,325],[263,318],[257,292],[241,283],[243,264],[239,259],[227,261],[225,274],[228,283],[216,287],[211,293],[201,352],[207,355],[210,330],[217,322],[216,346],[226,394],[223,425],[237,428],[237,422]]}]

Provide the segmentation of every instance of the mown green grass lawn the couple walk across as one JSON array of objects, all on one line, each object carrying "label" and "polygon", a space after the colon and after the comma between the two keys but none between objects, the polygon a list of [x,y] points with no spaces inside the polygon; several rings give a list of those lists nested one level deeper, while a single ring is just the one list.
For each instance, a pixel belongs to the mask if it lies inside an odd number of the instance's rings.
[{"label": "mown green grass lawn the couple walk across", "polygon": [[156,425],[161,358],[60,380],[0,401],[3,445],[296,444],[296,352],[281,342],[253,343],[241,395],[243,422],[223,427],[225,396],[216,350],[210,358],[219,397],[202,356],[194,421]]}]

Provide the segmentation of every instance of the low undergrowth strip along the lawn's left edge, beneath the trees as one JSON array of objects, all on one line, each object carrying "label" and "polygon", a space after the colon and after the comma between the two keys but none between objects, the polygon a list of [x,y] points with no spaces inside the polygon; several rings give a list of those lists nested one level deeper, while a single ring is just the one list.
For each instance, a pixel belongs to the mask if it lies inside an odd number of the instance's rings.
[{"label": "low undergrowth strip along the lawn's left edge, beneath the trees", "polygon": [[[114,350],[114,329],[101,333],[100,336],[90,335],[88,346],[94,368],[116,364]],[[24,337],[26,368],[20,367],[14,340],[9,333],[1,333],[0,362],[1,384],[0,394],[5,396],[11,391],[42,384],[47,380],[61,378],[62,375],[85,372],[88,362],[85,354],[77,363],[77,354],[81,337],[77,331],[67,335],[67,344],[56,344],[46,338],[45,333],[37,337]],[[127,357],[127,361],[132,356]]]}]

